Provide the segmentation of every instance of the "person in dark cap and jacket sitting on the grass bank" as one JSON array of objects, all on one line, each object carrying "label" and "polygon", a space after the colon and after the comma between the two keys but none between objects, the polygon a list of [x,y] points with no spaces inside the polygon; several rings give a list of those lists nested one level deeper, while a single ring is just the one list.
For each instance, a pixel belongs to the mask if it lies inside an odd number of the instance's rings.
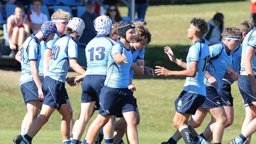
[{"label": "person in dark cap and jacket sitting on the grass bank", "polygon": [[209,46],[221,42],[221,33],[225,29],[223,19],[222,13],[216,13],[213,19],[208,21],[208,31],[203,38]]}]

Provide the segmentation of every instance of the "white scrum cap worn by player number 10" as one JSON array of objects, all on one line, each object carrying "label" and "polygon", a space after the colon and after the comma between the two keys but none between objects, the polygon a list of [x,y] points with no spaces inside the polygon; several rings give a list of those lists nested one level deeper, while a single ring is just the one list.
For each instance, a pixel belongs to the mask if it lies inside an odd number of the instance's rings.
[{"label": "white scrum cap worn by player number 10", "polygon": [[85,28],[84,22],[81,18],[73,17],[69,20],[68,27],[77,32],[77,35],[81,37],[83,29]]}]

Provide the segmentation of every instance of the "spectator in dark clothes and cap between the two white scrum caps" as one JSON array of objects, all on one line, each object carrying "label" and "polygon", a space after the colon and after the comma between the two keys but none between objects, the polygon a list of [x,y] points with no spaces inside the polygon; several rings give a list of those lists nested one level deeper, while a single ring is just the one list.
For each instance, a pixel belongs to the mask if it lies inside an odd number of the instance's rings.
[{"label": "spectator in dark clothes and cap between the two white scrum caps", "polygon": [[93,21],[97,17],[95,12],[95,2],[92,0],[87,1],[86,12],[81,16],[85,29],[83,30],[83,35],[80,38],[80,42],[87,44],[96,36],[96,31],[93,26]]}]

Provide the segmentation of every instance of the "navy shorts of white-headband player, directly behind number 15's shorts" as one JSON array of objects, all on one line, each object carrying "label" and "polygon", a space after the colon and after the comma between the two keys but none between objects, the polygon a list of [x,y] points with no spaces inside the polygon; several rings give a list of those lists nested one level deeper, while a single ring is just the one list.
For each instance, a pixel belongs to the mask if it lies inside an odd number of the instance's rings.
[{"label": "navy shorts of white-headband player, directly behind number 15's shorts", "polygon": [[202,108],[214,108],[223,106],[221,96],[219,96],[218,91],[214,87],[205,87],[206,98],[202,104]]}]

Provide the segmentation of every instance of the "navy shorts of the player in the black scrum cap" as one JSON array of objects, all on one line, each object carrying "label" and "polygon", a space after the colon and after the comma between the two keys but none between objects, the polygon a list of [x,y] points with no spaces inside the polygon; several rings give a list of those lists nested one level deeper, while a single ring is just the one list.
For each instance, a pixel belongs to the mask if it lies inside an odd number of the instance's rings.
[{"label": "navy shorts of the player in the black scrum cap", "polygon": [[128,88],[115,89],[104,86],[100,90],[100,111],[103,116],[136,111],[132,92]]}]

